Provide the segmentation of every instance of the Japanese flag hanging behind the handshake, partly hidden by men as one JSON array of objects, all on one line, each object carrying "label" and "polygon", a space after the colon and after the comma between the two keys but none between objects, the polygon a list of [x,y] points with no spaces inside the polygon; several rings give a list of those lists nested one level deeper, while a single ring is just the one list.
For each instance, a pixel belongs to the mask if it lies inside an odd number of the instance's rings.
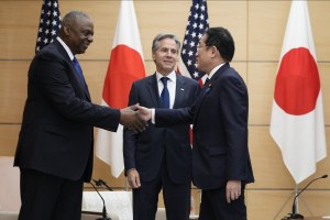
[{"label": "Japanese flag hanging behind the handshake, partly hidden by men", "polygon": [[[145,68],[134,4],[132,0],[122,0],[101,105],[127,107],[132,82],[143,77]],[[122,125],[116,133],[99,129],[96,142],[96,155],[111,166],[117,178],[124,168],[122,130]]]}]

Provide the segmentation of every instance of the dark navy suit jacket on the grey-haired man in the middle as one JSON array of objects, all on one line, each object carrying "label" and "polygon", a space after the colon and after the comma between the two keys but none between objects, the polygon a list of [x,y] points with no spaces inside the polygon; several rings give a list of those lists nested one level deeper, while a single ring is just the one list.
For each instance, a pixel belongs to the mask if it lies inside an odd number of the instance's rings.
[{"label": "dark navy suit jacket on the grey-haired man in the middle", "polygon": [[[176,96],[173,108],[191,106],[200,91],[194,79],[176,75]],[[147,108],[160,108],[156,75],[148,76],[132,85],[129,105],[140,103]],[[189,124],[170,128],[155,128],[150,123],[145,131],[134,134],[123,133],[123,155],[125,169],[136,168],[142,182],[148,182],[160,172],[166,156],[169,178],[184,184],[191,180],[191,146]]]}]

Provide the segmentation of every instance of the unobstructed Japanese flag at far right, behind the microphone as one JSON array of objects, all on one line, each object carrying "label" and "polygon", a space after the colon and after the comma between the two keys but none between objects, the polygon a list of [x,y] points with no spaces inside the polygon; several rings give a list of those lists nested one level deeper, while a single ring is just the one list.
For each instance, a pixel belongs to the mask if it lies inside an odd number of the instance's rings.
[{"label": "unobstructed Japanese flag at far right, behind the microphone", "polygon": [[327,156],[322,92],[307,1],[293,1],[275,84],[271,135],[299,184]]}]

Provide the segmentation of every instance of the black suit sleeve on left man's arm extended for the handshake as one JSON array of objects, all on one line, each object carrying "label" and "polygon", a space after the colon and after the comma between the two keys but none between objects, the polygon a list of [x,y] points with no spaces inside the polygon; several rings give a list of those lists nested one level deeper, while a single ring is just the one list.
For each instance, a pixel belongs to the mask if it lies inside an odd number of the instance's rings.
[{"label": "black suit sleeve on left man's arm extended for the handshake", "polygon": [[94,105],[79,97],[73,79],[73,69],[64,59],[51,53],[36,56],[33,61],[29,78],[40,94],[63,117],[77,122],[117,131],[120,111]]}]

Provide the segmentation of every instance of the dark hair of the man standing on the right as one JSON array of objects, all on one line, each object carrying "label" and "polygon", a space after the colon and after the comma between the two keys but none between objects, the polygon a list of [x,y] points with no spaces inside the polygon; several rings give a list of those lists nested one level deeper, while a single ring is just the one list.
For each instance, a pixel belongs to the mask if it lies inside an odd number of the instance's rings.
[{"label": "dark hair of the man standing on the right", "polygon": [[226,62],[231,62],[235,52],[234,41],[230,32],[222,28],[210,28],[206,31],[206,46],[216,46]]}]

